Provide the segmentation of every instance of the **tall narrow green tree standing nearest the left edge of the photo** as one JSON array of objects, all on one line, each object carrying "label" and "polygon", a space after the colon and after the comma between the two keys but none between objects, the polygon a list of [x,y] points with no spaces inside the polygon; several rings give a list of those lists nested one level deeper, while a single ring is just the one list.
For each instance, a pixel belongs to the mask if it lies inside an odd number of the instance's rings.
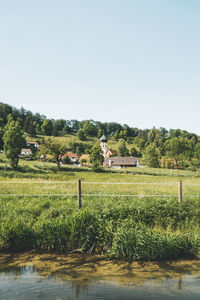
[{"label": "tall narrow green tree standing nearest the left edge of the photo", "polygon": [[22,128],[17,121],[10,119],[7,123],[3,135],[3,142],[5,155],[12,168],[16,169],[21,149],[26,145]]}]

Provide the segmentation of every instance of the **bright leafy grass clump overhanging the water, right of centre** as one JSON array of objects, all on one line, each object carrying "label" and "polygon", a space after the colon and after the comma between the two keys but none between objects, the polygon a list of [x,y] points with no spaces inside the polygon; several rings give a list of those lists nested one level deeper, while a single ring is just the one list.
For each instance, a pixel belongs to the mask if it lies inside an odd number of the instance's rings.
[{"label": "bright leafy grass clump overhanging the water, right of centre", "polygon": [[111,257],[163,260],[191,256],[190,241],[177,232],[157,231],[143,224],[126,223],[114,234]]}]

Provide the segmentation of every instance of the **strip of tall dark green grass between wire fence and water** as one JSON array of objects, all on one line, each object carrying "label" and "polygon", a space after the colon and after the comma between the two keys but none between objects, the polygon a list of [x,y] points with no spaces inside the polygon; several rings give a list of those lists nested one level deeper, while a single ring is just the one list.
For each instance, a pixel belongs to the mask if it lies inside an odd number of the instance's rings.
[{"label": "strip of tall dark green grass between wire fence and water", "polygon": [[98,253],[108,258],[199,258],[200,201],[159,198],[0,199],[0,251]]}]

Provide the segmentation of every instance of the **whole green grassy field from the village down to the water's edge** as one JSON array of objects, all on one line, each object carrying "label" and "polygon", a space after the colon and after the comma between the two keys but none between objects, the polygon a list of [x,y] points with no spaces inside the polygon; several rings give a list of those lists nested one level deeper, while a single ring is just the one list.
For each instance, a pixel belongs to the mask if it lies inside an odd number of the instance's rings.
[{"label": "whole green grassy field from the village down to the water's edge", "polygon": [[[94,173],[72,166],[59,173],[54,164],[36,161],[20,161],[16,172],[5,171],[1,161],[0,251],[95,251],[130,260],[198,258],[196,175],[143,168]],[[76,195],[79,178],[81,210]],[[182,203],[177,201],[180,179]]]}]

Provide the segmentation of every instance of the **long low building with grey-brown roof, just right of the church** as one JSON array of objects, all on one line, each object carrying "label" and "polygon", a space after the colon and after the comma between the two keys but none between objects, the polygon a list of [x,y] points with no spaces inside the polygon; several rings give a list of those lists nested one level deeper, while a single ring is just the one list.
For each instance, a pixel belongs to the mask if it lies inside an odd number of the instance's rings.
[{"label": "long low building with grey-brown roof, just right of the church", "polygon": [[112,167],[116,169],[127,167],[139,167],[139,161],[137,157],[108,157],[104,160],[104,167]]}]

